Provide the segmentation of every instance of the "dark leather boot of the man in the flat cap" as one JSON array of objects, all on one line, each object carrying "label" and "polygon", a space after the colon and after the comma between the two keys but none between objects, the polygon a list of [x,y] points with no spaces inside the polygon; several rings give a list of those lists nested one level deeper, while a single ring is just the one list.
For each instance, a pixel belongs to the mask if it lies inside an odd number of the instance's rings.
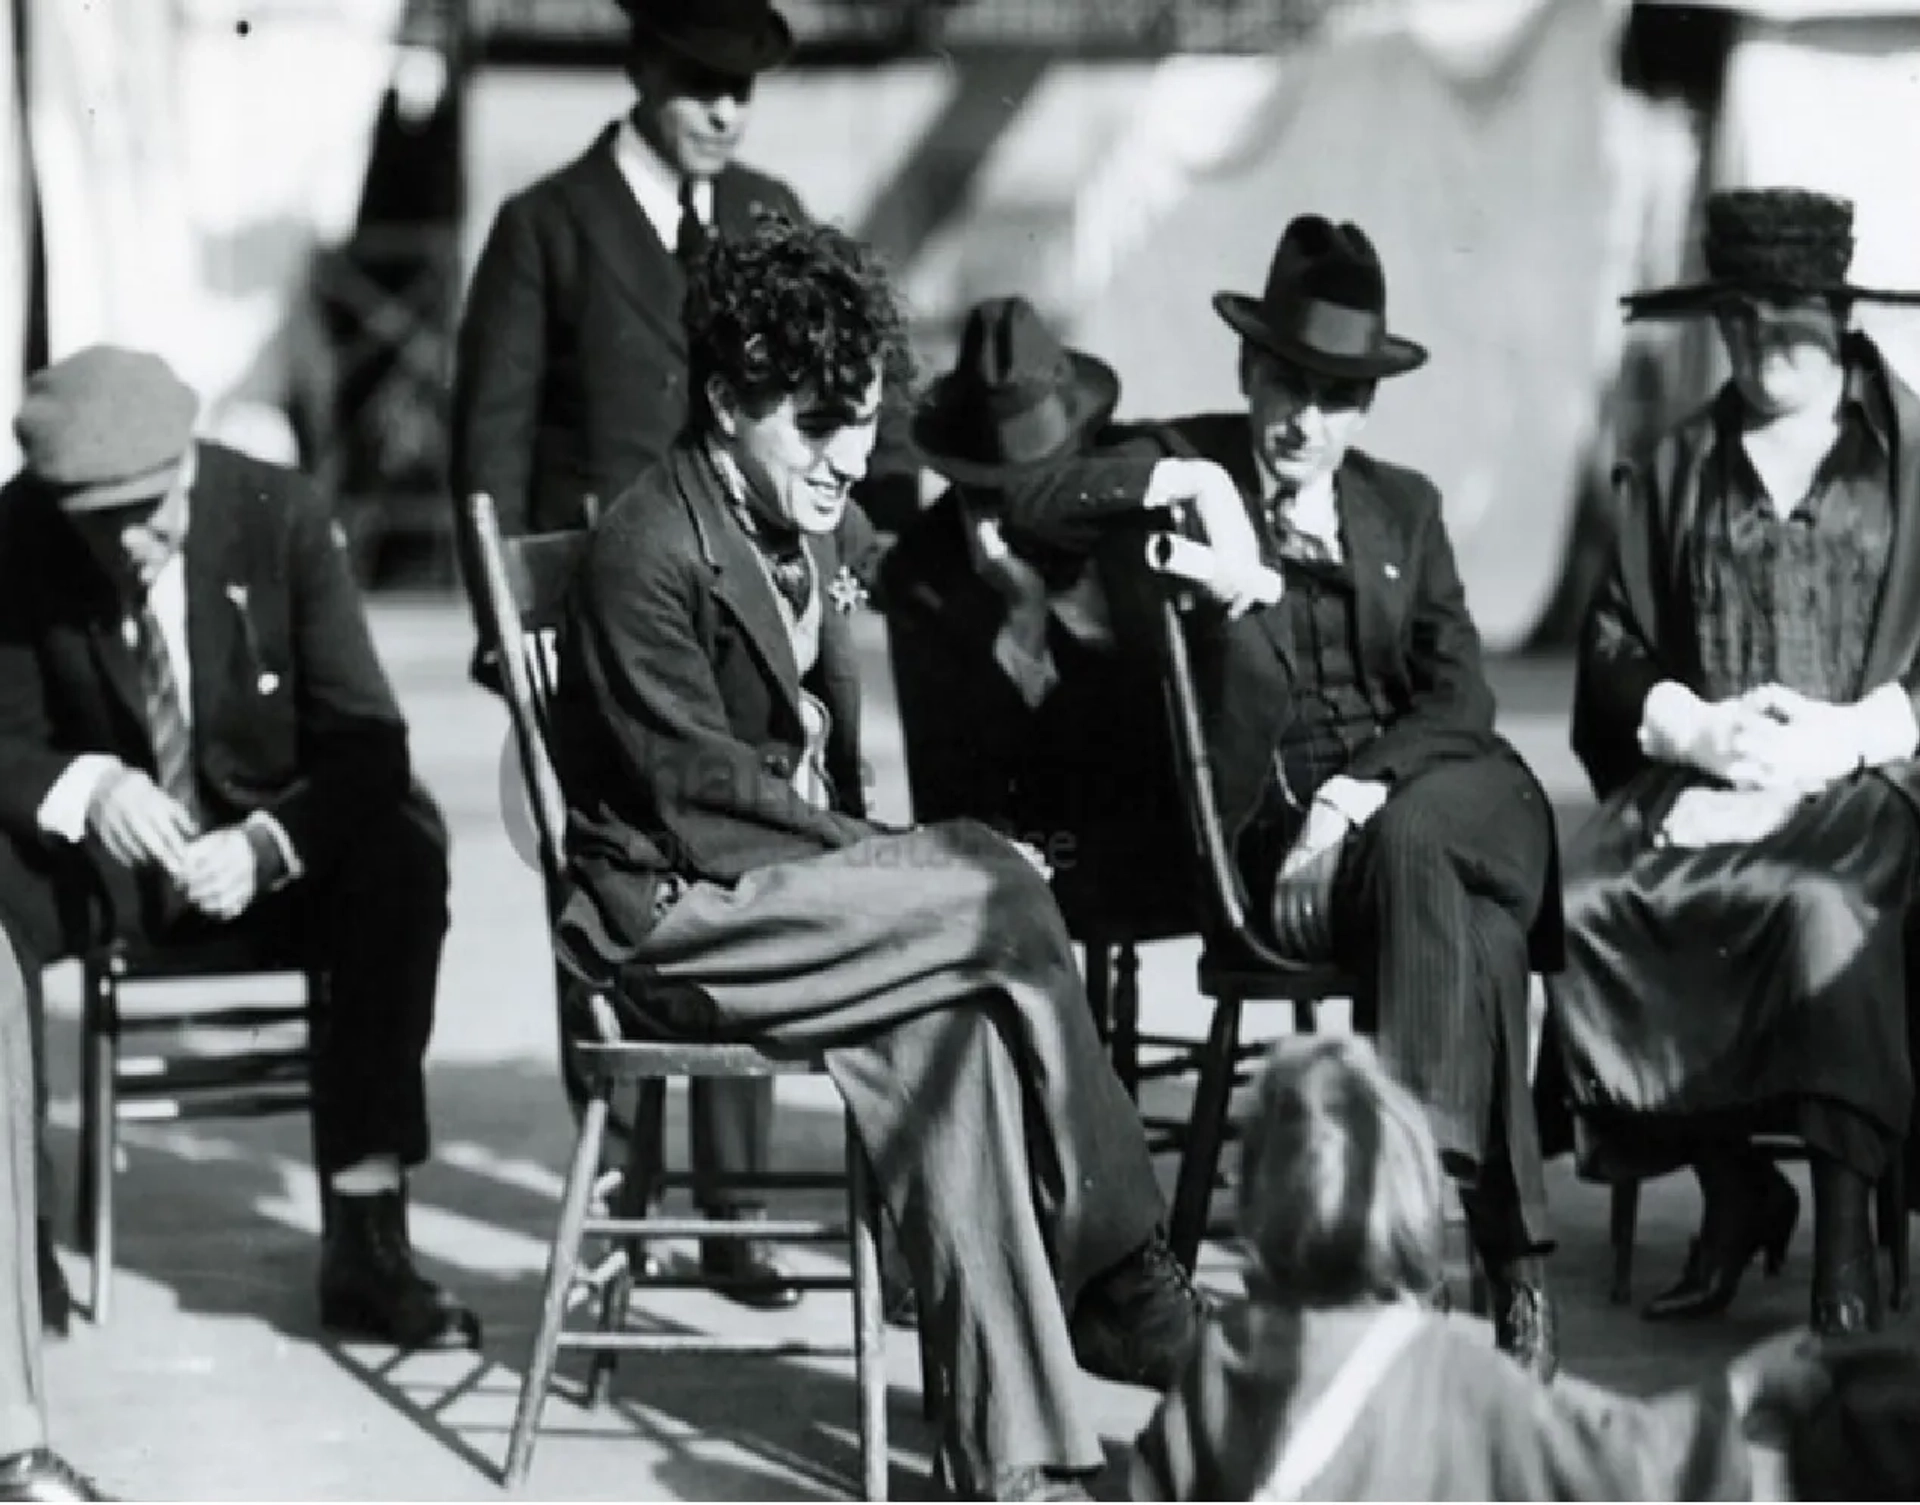
[{"label": "dark leather boot of the man in the flat cap", "polygon": [[480,1317],[413,1265],[405,1192],[328,1196],[321,1326],[396,1348],[480,1348]]}]

